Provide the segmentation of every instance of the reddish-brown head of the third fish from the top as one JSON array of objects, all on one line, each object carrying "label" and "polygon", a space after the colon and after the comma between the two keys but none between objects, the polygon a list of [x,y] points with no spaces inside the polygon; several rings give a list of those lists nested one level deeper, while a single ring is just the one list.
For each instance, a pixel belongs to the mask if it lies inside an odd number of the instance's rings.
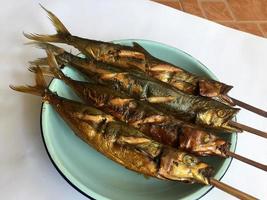
[{"label": "reddish-brown head of the third fish from the top", "polygon": [[182,149],[201,156],[218,155],[226,157],[230,143],[203,130],[186,127],[179,136]]}]

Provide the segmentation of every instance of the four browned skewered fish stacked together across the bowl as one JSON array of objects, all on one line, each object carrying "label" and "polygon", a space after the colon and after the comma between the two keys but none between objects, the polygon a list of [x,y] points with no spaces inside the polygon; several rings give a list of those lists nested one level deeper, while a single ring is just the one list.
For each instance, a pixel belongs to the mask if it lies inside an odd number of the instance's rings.
[{"label": "four browned skewered fish stacked together across the bowl", "polygon": [[[73,36],[53,13],[46,12],[57,34],[25,34],[47,52],[46,58],[30,62],[36,86],[11,88],[41,96],[97,151],[144,175],[189,183],[216,185],[211,167],[196,156],[234,156],[266,171],[266,165],[230,152],[229,142],[216,135],[247,130],[266,137],[232,121],[239,111],[233,106],[239,101],[227,95],[231,86],[159,60],[137,43],[123,46]],[[72,45],[85,57],[48,42]],[[66,76],[59,68],[65,65],[88,81]],[[48,89],[43,76],[64,81],[84,103],[59,97]]]}]

